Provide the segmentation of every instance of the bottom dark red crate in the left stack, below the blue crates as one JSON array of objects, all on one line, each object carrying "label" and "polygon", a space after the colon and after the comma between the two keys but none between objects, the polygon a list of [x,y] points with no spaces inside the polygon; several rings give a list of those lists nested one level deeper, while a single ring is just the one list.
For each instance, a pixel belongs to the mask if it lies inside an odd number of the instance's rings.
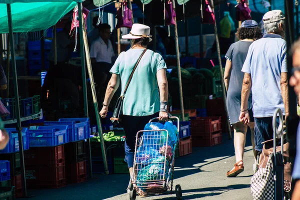
[{"label": "bottom dark red crate in the left stack, below the blue crates", "polygon": [[58,188],[65,185],[65,166],[31,165],[26,166],[26,183],[28,187]]}]

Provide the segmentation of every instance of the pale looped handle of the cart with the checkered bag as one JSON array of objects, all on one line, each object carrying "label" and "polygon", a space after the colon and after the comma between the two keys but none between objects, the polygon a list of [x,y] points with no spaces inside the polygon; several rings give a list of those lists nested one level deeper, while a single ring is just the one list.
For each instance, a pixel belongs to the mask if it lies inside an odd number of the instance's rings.
[{"label": "pale looped handle of the cart with the checkered bag", "polygon": [[[279,116],[279,125],[277,127],[276,118]],[[273,154],[276,156],[276,138],[281,140],[281,154],[283,155],[283,116],[280,108],[276,108],[272,120],[273,125]]]}]

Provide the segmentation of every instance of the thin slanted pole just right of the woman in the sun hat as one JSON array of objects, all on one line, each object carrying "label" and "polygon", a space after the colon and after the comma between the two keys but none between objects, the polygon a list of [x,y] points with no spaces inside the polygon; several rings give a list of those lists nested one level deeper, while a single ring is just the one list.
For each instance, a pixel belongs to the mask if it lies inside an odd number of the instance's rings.
[{"label": "thin slanted pole just right of the woman in the sun hat", "polygon": [[[173,9],[175,10],[175,0],[172,0]],[[175,20],[175,44],[176,44],[176,58],[177,58],[177,70],[178,70],[178,83],[179,83],[179,98],[180,98],[180,109],[182,121],[184,121],[184,108],[183,108],[183,94],[182,94],[182,84],[181,84],[181,68],[180,68],[180,54],[179,54],[179,44],[178,44],[178,31],[177,31],[177,20]]]}]

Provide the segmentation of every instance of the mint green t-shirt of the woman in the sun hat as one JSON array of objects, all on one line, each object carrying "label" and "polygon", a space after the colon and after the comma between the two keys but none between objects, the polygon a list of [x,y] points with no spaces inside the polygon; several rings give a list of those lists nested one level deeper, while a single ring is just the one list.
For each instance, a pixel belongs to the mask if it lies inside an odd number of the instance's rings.
[{"label": "mint green t-shirt of the woman in the sun hat", "polygon": [[[122,91],[143,49],[129,49],[117,57],[110,73],[119,74]],[[123,114],[147,116],[159,111],[159,91],[156,72],[166,69],[162,56],[147,50],[134,71],[123,101]],[[122,93],[121,93],[122,94]]]}]

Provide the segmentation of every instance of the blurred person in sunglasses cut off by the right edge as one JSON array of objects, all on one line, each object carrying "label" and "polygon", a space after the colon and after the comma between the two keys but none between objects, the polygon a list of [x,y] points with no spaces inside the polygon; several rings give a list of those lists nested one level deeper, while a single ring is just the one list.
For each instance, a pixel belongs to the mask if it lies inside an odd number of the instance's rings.
[{"label": "blurred person in sunglasses cut off by the right edge", "polygon": [[[291,49],[292,53],[292,76],[289,79],[290,86],[293,87],[296,95],[300,93],[300,40],[296,41]],[[300,126],[297,130],[296,157],[294,161],[292,178],[295,182],[292,198],[300,199]]]}]

